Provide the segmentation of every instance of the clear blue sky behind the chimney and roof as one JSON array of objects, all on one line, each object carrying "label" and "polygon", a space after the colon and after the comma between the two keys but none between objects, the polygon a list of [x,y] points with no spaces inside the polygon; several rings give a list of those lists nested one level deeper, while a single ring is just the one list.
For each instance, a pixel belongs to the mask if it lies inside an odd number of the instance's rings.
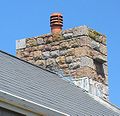
[{"label": "clear blue sky behind the chimney and roof", "polygon": [[0,0],[0,49],[15,55],[17,39],[49,33],[61,12],[63,29],[87,25],[107,36],[110,101],[120,107],[120,0]]}]

